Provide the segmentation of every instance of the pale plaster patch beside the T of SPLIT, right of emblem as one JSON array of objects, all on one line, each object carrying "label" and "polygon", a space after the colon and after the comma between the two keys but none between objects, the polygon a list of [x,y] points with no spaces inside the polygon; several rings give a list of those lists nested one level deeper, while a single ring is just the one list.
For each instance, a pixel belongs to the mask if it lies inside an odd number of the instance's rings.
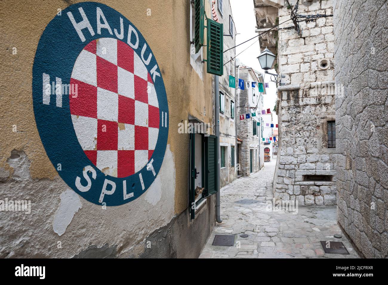
[{"label": "pale plaster patch beside the T of SPLIT, right of emblem", "polygon": [[[166,192],[172,193],[172,201],[174,201],[175,195],[175,163],[174,157],[170,150],[170,145],[166,147],[165,157],[163,159],[162,166],[160,168],[159,174],[147,190],[144,199],[156,206],[162,196],[162,189]],[[170,196],[170,195],[168,195]]]}]

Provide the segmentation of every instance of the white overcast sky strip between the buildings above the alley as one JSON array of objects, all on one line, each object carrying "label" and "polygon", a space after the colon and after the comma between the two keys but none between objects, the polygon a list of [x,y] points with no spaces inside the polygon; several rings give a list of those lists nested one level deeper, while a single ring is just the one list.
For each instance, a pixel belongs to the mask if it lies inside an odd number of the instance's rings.
[{"label": "white overcast sky strip between the buildings above the alley", "polygon": [[[256,18],[253,12],[253,0],[230,0],[230,6],[232,7],[233,20],[236,28],[236,45],[246,41],[258,34],[255,32],[256,29]],[[253,44],[253,45],[252,45]],[[249,47],[251,45],[251,47]],[[249,47],[247,50],[242,52],[245,48]],[[264,47],[265,48],[265,47]],[[262,48],[263,49],[263,48]],[[240,52],[242,52],[240,55]],[[253,67],[257,71],[263,73],[263,69],[261,69],[259,60],[257,57],[260,54],[260,46],[257,38],[248,41],[238,47],[236,47],[236,55],[237,58],[240,59],[242,64],[245,64],[249,67]],[[274,70],[270,71],[271,73],[275,73]],[[269,88],[267,88],[267,95],[264,95],[264,108],[271,109],[272,113],[272,122],[277,124],[277,116],[275,112],[272,112],[274,109],[274,105],[276,103],[276,85],[274,82],[270,81],[270,76],[267,74],[264,77],[264,82],[269,83]],[[266,123],[271,122],[271,115],[264,115],[263,120]]]}]

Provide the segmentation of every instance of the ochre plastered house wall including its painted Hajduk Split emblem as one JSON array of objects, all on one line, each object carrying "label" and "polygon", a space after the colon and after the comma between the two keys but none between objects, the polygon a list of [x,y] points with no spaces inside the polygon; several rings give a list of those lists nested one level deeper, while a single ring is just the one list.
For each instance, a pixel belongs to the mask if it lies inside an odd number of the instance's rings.
[{"label": "ochre plastered house wall including its painted Hajduk Split emblem", "polygon": [[215,95],[206,48],[193,52],[194,7],[75,2],[0,4],[0,257],[197,257],[215,198],[191,219],[180,126],[214,134]]}]

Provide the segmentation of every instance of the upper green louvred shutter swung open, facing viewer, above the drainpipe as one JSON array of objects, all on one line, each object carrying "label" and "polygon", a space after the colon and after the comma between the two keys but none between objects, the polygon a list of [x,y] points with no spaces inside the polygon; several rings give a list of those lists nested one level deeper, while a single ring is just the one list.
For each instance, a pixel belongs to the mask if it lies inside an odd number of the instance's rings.
[{"label": "upper green louvred shutter swung open, facing viewer, above the drainpipe", "polygon": [[207,72],[223,74],[223,24],[208,18],[207,21]]}]

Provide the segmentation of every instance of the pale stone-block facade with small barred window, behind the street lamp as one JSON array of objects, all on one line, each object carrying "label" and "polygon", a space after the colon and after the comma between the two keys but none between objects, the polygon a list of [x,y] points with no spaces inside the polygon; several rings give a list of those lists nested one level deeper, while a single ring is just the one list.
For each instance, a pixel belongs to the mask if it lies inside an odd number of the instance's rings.
[{"label": "pale stone-block facade with small barred window, behind the street lamp", "polygon": [[[332,2],[301,2],[298,14],[333,14]],[[290,19],[287,5],[279,22]],[[276,200],[299,206],[336,204],[335,148],[328,147],[327,126],[335,121],[333,17],[279,26],[277,72],[279,154],[274,176]]]}]

